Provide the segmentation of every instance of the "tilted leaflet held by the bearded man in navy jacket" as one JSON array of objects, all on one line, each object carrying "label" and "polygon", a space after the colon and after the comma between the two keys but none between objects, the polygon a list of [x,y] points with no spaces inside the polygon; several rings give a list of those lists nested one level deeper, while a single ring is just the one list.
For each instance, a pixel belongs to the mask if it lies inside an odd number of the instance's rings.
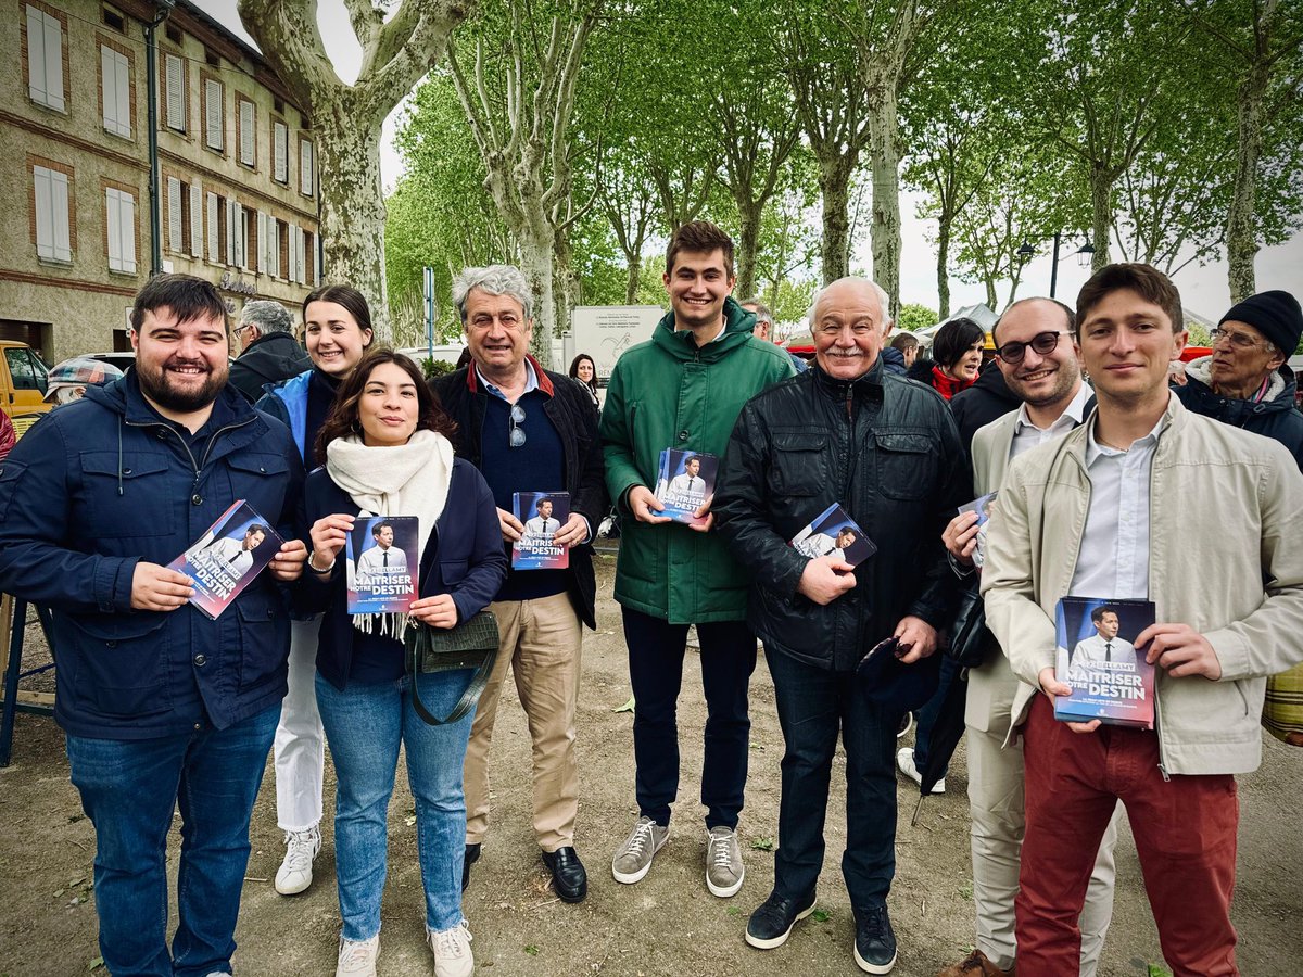
[{"label": "tilted leaflet held by the bearded man in navy jacket", "polygon": [[168,569],[190,578],[194,586],[190,603],[216,620],[284,542],[253,505],[238,499]]}]

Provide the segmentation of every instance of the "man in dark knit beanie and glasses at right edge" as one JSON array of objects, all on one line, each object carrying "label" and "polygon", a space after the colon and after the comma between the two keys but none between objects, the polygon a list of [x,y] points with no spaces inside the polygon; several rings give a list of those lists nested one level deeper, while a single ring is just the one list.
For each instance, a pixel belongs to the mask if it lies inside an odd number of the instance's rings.
[{"label": "man in dark knit beanie and glasses at right edge", "polygon": [[1177,397],[1190,410],[1278,440],[1303,469],[1303,414],[1286,361],[1303,335],[1289,292],[1259,292],[1231,306],[1213,330],[1213,352],[1186,365]]}]

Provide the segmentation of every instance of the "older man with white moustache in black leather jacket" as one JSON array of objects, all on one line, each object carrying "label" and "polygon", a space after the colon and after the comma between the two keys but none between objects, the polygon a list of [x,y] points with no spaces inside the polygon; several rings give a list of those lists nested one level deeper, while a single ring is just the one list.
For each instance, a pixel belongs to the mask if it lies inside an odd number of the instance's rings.
[{"label": "older man with white moustache in black leather jacket", "polygon": [[[747,925],[758,950],[780,946],[814,909],[838,733],[846,745],[842,874],[855,913],[856,965],[889,973],[895,875],[893,746],[900,716],[936,689],[937,629],[952,611],[941,530],[969,478],[950,410],[934,391],[889,374],[886,293],[840,279],[814,302],[814,366],[743,408],[715,492],[719,533],[753,574],[747,621],[765,642],[786,753],[774,891]],[[877,545],[851,567],[788,539],[839,504]],[[865,650],[894,640],[870,692]],[[893,655],[894,651],[894,655]]]}]

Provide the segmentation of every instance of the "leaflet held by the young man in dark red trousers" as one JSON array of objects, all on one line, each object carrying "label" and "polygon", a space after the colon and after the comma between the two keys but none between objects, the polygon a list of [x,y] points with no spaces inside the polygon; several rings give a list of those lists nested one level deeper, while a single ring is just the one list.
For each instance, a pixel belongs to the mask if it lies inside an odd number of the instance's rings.
[{"label": "leaflet held by the young man in dark red trousers", "polygon": [[1072,687],[1054,700],[1054,718],[1153,728],[1154,666],[1135,640],[1154,623],[1149,601],[1065,597],[1055,611],[1055,677]]}]

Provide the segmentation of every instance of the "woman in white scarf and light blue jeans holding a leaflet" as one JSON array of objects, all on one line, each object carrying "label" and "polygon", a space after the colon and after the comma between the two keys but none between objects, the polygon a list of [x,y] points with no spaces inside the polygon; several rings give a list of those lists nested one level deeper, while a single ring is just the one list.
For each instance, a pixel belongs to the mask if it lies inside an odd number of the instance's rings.
[{"label": "woman in white scarf and light blue jeans holding a leaflet", "polygon": [[[313,551],[302,603],[324,612],[317,702],[337,780],[335,851],[344,927],[336,976],[375,973],[386,818],[400,743],[416,800],[435,974],[466,977],[474,969],[461,916],[461,766],[474,710],[444,726],[421,720],[412,706],[413,677],[404,670],[407,616],[351,615],[344,560],[336,559],[358,517],[416,516],[421,548],[408,560],[413,569],[420,567],[420,576],[410,616],[452,628],[489,604],[507,563],[498,511],[480,473],[453,459],[451,431],[452,422],[410,360],[371,353],[340,387],[318,442],[326,465],[308,477]],[[469,671],[421,675],[421,701],[446,715],[469,680]]]}]

